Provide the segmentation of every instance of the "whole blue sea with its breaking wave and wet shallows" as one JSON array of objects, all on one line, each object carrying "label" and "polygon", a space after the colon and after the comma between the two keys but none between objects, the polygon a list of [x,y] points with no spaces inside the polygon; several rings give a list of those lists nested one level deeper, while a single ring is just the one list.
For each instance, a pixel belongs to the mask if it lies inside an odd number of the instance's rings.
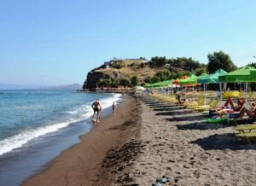
[{"label": "whole blue sea with its breaking wave and wet shallows", "polygon": [[89,132],[91,103],[103,116],[119,94],[75,90],[0,90],[0,185],[20,185]]}]

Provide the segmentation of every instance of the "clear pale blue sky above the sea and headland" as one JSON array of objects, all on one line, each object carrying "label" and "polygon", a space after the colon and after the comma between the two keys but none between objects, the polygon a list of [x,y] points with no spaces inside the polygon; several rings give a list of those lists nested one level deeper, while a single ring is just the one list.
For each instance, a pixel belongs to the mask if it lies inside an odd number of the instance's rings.
[{"label": "clear pale blue sky above the sea and headland", "polygon": [[84,82],[113,57],[256,55],[255,0],[0,0],[0,83]]}]

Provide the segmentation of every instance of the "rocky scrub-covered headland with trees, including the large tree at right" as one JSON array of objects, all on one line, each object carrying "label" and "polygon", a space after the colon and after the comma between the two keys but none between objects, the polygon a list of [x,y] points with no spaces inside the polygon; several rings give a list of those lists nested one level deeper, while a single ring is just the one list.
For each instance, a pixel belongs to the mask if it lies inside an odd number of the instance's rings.
[{"label": "rocky scrub-covered headland with trees, including the large tree at right", "polygon": [[113,60],[109,68],[104,65],[92,70],[84,82],[84,89],[96,87],[134,87],[148,83],[156,83],[183,75],[200,75],[213,73],[219,68],[230,72],[237,67],[230,59],[230,55],[223,51],[208,54],[208,63],[203,64],[191,57],[166,58],[154,56],[149,61],[141,57],[134,60]]}]

